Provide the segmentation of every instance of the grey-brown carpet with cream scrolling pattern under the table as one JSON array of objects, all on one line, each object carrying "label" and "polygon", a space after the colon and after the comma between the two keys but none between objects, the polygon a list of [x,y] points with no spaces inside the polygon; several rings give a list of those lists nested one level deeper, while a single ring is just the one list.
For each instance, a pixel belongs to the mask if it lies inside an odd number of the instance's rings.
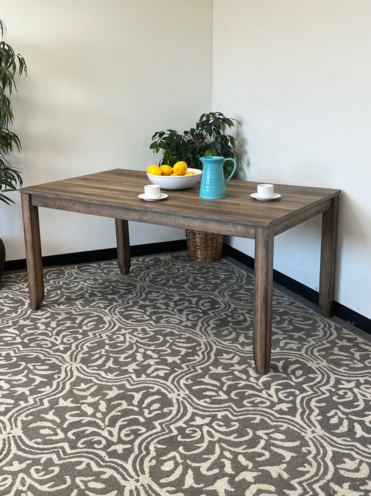
[{"label": "grey-brown carpet with cream scrolling pattern under the table", "polygon": [[255,372],[253,274],[187,253],[1,283],[0,495],[371,495],[370,336],[274,290]]}]

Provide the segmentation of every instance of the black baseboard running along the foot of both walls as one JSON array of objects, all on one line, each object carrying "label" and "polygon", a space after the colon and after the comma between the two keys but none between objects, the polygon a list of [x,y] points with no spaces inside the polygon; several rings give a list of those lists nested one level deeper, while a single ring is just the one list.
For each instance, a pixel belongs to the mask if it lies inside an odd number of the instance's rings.
[{"label": "black baseboard running along the foot of both walls", "polygon": [[[179,239],[176,241],[164,241],[161,243],[147,243],[144,245],[136,245],[130,247],[130,254],[132,257],[139,257],[141,255],[153,255],[155,253],[166,253],[181,251],[187,249],[187,242],[185,239]],[[229,255],[237,262],[254,268],[254,259],[245,253],[242,253],[232,246],[224,245],[223,254]],[[42,257],[43,266],[58,266],[58,265],[70,265],[70,264],[84,264],[88,262],[100,262],[102,260],[114,260],[117,258],[116,248],[106,248],[104,250],[91,250],[85,252],[77,253],[63,253],[62,255],[50,255],[47,257]],[[26,260],[10,260],[5,262],[4,271],[17,271],[26,269]],[[318,304],[318,292],[312,290],[310,287],[299,283],[297,280],[285,276],[285,274],[274,271],[273,274],[274,281],[279,285],[286,287],[304,299],[310,301],[311,303]],[[333,303],[333,314],[350,324],[358,327],[362,331],[371,333],[371,319],[361,315],[360,313],[347,308],[346,306],[334,301]]]}]

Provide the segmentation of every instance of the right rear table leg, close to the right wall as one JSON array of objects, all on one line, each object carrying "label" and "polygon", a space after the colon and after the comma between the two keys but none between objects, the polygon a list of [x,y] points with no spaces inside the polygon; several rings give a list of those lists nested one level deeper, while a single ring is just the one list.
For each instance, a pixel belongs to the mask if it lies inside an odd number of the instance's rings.
[{"label": "right rear table leg, close to the right wall", "polygon": [[322,213],[321,264],[319,269],[319,309],[324,317],[333,313],[335,284],[336,240],[338,237],[339,197],[332,200],[331,208]]}]

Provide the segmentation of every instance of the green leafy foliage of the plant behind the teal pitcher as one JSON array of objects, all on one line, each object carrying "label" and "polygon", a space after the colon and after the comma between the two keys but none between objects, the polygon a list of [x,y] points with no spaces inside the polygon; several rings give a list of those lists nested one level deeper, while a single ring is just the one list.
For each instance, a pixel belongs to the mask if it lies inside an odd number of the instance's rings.
[{"label": "green leafy foliage of the plant behind the teal pitcher", "polygon": [[[153,153],[162,152],[159,165],[173,165],[179,160],[184,160],[188,167],[202,170],[203,164],[200,157],[221,156],[235,158],[239,164],[236,137],[226,134],[226,130],[240,125],[237,119],[230,119],[221,112],[202,114],[196,126],[184,133],[177,133],[174,129],[157,131],[152,136],[150,149]],[[233,163],[228,160],[224,165],[224,174],[230,174]]]}]

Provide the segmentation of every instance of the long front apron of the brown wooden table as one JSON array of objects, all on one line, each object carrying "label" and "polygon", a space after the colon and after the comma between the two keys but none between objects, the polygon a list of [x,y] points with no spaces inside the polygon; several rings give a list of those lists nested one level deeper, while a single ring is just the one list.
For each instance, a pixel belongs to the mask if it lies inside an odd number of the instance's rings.
[{"label": "long front apron of the brown wooden table", "polygon": [[31,195],[33,206],[42,206],[48,209],[65,210],[77,213],[88,213],[93,216],[109,217],[123,220],[133,220],[148,224],[164,225],[168,227],[182,227],[196,231],[214,232],[239,236],[242,238],[255,238],[255,227],[237,223],[216,221],[207,218],[194,218],[182,214],[174,214],[168,211],[141,211],[125,206],[97,205],[74,200],[64,200],[51,197]]}]

